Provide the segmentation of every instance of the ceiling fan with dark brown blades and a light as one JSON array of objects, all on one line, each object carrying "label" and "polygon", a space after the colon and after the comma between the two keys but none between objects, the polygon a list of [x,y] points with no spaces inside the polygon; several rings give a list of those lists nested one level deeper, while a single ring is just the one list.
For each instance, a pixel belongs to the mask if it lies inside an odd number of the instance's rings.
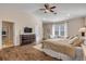
[{"label": "ceiling fan with dark brown blades and a light", "polygon": [[57,14],[57,12],[53,11],[53,9],[56,9],[57,7],[51,7],[49,3],[45,3],[44,4],[45,8],[39,9],[40,11],[44,11],[45,13],[51,12],[53,14]]}]

